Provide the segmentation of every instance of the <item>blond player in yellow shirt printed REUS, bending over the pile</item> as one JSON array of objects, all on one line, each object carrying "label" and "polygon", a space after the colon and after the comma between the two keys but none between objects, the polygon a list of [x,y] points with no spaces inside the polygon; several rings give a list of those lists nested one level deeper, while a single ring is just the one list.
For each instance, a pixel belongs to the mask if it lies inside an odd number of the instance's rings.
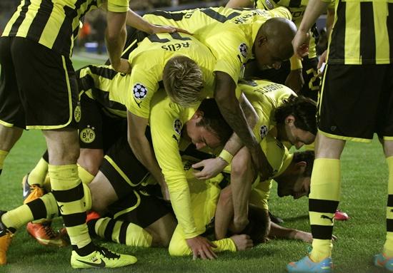
[{"label": "blond player in yellow shirt printed REUS, bending over the pile", "polygon": [[[114,125],[124,126],[123,118],[127,117],[130,147],[136,158],[154,175],[164,194],[167,192],[166,182],[145,136],[150,100],[159,88],[159,92],[164,92],[164,86],[172,101],[179,105],[194,105],[202,98],[212,97],[215,59],[194,37],[175,33],[148,36],[129,55],[129,60],[133,67],[130,74],[116,73],[111,66],[87,66],[77,71],[79,90],[86,91],[81,95],[84,116],[79,128],[81,156],[78,163],[83,168],[79,168],[79,174],[85,181],[92,180],[106,150],[99,141],[103,134],[110,140],[122,136]],[[104,112],[99,110],[101,107],[105,108]],[[108,118],[105,115],[108,112],[120,115],[120,118]],[[102,130],[101,118],[111,120],[108,122],[112,123],[110,133]],[[115,136],[109,136],[111,134]],[[164,196],[169,199],[168,193]],[[28,231],[32,233],[31,228],[33,225],[29,224]],[[39,235],[34,237],[38,239]]]}]

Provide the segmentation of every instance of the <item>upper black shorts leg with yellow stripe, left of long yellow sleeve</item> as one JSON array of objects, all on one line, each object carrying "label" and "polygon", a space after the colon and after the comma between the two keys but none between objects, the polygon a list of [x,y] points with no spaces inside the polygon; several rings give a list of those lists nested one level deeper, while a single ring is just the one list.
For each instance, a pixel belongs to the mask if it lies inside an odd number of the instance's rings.
[{"label": "upper black shorts leg with yellow stripe, left of long yellow sleeve", "polygon": [[132,194],[149,176],[149,171],[132,153],[126,137],[109,148],[99,170],[111,182],[119,200]]}]

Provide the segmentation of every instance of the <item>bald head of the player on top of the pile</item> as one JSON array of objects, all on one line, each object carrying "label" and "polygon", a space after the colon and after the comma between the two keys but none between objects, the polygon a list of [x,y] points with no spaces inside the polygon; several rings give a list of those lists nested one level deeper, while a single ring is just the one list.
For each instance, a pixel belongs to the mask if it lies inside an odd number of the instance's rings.
[{"label": "bald head of the player on top of the pile", "polygon": [[284,18],[272,18],[262,24],[253,46],[260,69],[279,69],[283,61],[292,57],[292,39],[296,31],[294,23]]}]

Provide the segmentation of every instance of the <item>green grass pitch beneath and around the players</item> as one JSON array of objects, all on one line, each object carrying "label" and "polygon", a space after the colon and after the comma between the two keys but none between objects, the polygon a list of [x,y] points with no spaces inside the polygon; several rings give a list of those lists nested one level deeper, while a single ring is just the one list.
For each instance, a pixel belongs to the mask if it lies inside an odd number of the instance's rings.
[{"label": "green grass pitch beneath and around the players", "polygon": [[[79,68],[86,63],[74,61]],[[21,205],[21,179],[34,167],[45,150],[39,131],[26,131],[11,150],[0,177],[0,209],[11,210]],[[284,226],[309,231],[307,198],[278,198],[272,189],[270,209],[284,219]],[[384,272],[372,266],[372,256],[382,249],[385,236],[387,200],[387,165],[381,145],[376,139],[370,144],[347,143],[342,156],[342,202],[339,208],[351,219],[336,222],[334,234],[334,272]],[[61,220],[54,221],[61,227]],[[222,253],[214,261],[192,261],[191,257],[169,257],[166,249],[142,249],[100,242],[110,249],[134,254],[134,266],[99,272],[284,272],[287,262],[307,253],[303,242],[271,240],[246,252]],[[76,272],[71,269],[70,247],[42,247],[27,235],[24,228],[16,232],[8,252],[9,263],[0,272]],[[94,269],[94,272],[98,269]],[[83,272],[93,272],[84,269]]]}]

